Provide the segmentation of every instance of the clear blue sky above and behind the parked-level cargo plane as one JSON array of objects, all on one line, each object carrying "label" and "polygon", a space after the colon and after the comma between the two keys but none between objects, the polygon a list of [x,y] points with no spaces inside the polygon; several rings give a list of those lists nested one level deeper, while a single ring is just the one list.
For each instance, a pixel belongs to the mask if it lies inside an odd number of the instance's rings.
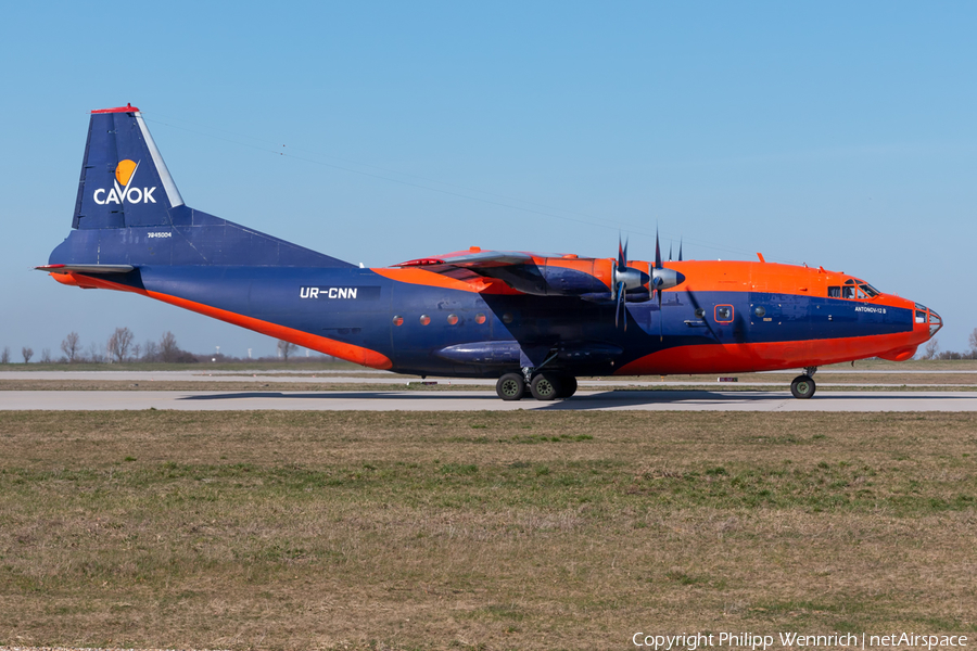
[{"label": "clear blue sky above and behind the parked-level cargo plane", "polygon": [[[823,265],[977,328],[973,2],[12,3],[0,347],[274,341],[30,268],[93,108],[139,106],[187,203],[367,266],[480,245]],[[281,155],[287,153],[289,155]],[[650,237],[649,237],[650,235]],[[18,357],[18,355],[17,355]]]}]

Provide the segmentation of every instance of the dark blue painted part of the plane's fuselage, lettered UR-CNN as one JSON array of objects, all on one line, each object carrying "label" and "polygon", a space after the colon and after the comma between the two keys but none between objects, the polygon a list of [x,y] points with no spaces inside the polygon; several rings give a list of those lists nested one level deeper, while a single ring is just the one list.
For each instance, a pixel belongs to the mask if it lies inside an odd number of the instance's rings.
[{"label": "dark blue painted part of the plane's fuselage, lettered UR-CNN", "polygon": [[437,355],[479,342],[623,350],[616,359],[574,361],[572,371],[584,375],[609,374],[674,346],[807,342],[913,328],[910,309],[791,294],[680,289],[667,292],[660,308],[657,301],[629,303],[625,331],[614,327],[610,302],[479,294],[398,282],[355,267],[147,265],[123,278],[125,284],[369,348],[390,358],[391,370],[429,375],[497,376],[496,365]]}]

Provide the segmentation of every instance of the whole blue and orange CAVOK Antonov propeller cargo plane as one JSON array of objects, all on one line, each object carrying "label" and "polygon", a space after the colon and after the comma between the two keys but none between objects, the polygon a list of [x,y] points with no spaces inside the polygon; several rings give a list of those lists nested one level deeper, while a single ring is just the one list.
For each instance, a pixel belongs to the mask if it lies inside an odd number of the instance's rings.
[{"label": "whole blue and orange CAVOK Antonov propeller cargo plane", "polygon": [[139,110],[93,111],[72,230],[38,269],[141,294],[375,369],[497,378],[504,400],[581,375],[911,358],[931,309],[822,267],[466,251],[361,268],[187,206]]}]

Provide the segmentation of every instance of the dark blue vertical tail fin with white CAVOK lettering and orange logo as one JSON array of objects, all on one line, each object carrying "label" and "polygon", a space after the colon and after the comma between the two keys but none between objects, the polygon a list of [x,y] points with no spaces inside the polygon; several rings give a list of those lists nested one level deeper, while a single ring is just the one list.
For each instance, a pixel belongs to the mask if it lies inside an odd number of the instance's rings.
[{"label": "dark blue vertical tail fin with white CAVOK lettering and orange logo", "polygon": [[351,267],[189,208],[135,106],[93,111],[62,265]]}]

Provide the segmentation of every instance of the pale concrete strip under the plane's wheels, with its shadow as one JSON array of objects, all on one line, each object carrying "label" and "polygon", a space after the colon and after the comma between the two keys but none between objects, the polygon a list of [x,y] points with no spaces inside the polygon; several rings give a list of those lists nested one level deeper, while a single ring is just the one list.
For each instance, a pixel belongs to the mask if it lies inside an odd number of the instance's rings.
[{"label": "pale concrete strip under the plane's wheels, with its shadow", "polygon": [[567,400],[507,403],[487,391],[165,392],[0,391],[0,411],[977,411],[977,392],[821,392],[798,400],[788,392],[581,391]]}]

